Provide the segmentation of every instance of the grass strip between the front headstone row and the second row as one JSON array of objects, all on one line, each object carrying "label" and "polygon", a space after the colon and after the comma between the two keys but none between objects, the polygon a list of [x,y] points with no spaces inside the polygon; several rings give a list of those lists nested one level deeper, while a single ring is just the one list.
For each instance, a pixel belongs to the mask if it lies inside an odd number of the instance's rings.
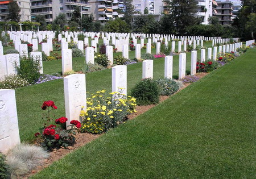
[{"label": "grass strip between the front headstone row and the second row", "polygon": [[[208,43],[210,44],[210,43]],[[146,49],[144,49],[146,51]],[[134,51],[133,51],[134,52]],[[135,52],[134,52],[135,53]],[[118,53],[115,53],[118,54]],[[119,53],[121,54],[121,53]],[[130,53],[132,55],[133,53]],[[135,56],[135,55],[134,55]],[[197,56],[200,58],[200,51]],[[81,69],[80,65],[84,63],[84,57],[73,58],[73,68]],[[45,61],[44,72],[47,74],[61,71],[61,61]],[[191,53],[187,53],[187,74],[190,73]],[[179,56],[174,56],[173,75],[178,78]],[[154,60],[154,78],[164,77],[164,58]],[[135,86],[142,78],[142,63],[127,65],[127,92],[130,94],[131,88]],[[18,110],[20,139],[22,141],[34,140],[34,134],[42,127],[42,106],[44,101],[52,100],[59,108],[55,111],[56,118],[65,116],[64,109],[64,85],[63,80],[54,80],[43,84],[27,86],[16,89],[16,105]],[[112,70],[105,69],[98,72],[86,74],[86,91],[94,93],[97,90],[106,89],[107,93],[112,90]],[[29,126],[28,126],[29,123]]]}]

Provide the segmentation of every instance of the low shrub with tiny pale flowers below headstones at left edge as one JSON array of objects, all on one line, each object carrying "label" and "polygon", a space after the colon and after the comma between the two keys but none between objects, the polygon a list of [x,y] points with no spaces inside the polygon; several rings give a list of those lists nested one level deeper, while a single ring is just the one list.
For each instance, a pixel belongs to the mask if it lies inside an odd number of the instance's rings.
[{"label": "low shrub with tiny pale flowers below headstones at left edge", "polygon": [[0,82],[0,89],[16,89],[28,85],[30,85],[30,83],[26,79],[12,74],[6,76],[5,80]]}]

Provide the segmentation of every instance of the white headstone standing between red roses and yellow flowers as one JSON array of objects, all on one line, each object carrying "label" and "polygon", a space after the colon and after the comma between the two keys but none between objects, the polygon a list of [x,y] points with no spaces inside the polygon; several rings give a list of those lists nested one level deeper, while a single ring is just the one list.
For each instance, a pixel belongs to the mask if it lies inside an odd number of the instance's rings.
[{"label": "white headstone standing between red roses and yellow flowers", "polygon": [[71,74],[64,77],[64,98],[67,128],[71,120],[80,120],[82,106],[86,109],[85,74]]}]

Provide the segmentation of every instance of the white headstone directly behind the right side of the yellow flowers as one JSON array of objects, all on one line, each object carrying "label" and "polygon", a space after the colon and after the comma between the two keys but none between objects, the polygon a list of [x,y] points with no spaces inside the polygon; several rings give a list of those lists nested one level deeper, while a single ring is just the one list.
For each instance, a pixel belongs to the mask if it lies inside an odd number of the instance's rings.
[{"label": "white headstone directly behind the right side of the yellow flowers", "polygon": [[[122,89],[119,89],[122,88]],[[122,90],[127,95],[127,66],[116,65],[112,68],[112,92]]]}]

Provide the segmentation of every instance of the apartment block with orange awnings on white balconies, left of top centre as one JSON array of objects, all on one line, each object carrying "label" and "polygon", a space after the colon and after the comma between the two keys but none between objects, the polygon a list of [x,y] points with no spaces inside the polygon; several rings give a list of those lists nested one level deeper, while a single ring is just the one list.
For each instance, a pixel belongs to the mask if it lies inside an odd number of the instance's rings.
[{"label": "apartment block with orange awnings on white balconies, left of top centre", "polygon": [[94,20],[106,22],[123,16],[123,0],[92,0],[90,5]]}]

